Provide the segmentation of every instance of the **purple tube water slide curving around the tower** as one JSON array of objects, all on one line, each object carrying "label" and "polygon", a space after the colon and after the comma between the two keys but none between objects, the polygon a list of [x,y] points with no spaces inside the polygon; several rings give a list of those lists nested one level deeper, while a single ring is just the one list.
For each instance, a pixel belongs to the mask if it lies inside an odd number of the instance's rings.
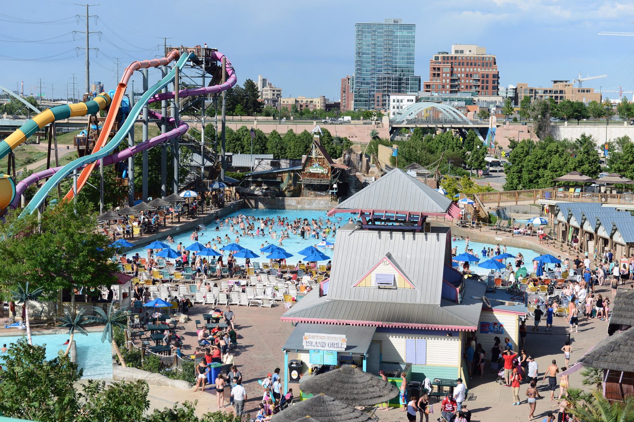
[{"label": "purple tube water slide curving around the tower", "polygon": [[[224,54],[218,53],[217,51],[214,51],[214,53],[212,54],[212,58],[215,58],[217,61],[221,61],[223,57],[224,57]],[[232,86],[235,85],[237,79],[236,79],[233,67],[231,67],[231,61],[229,61],[229,59],[226,60],[226,71],[227,71],[228,79],[226,82],[224,82],[224,84],[195,88],[195,89],[181,89],[178,91],[178,96],[188,97],[193,95],[215,94],[215,93],[220,93],[222,91],[226,91],[227,89],[230,89]],[[171,98],[174,98],[174,91],[172,91],[171,93],[157,94],[153,96],[152,98],[150,98],[148,103],[154,103],[156,101],[162,101],[163,99],[171,99]],[[149,110],[149,112],[150,112],[150,118],[162,118],[162,115],[160,113],[153,112],[152,110]],[[174,118],[172,117],[167,118],[167,124],[174,125]],[[187,132],[188,129],[189,129],[189,126],[185,122],[179,121],[178,127],[175,127],[169,132],[165,132],[164,134],[155,136],[152,139],[148,139],[145,142],[136,144],[134,146],[131,146],[130,148],[126,148],[125,150],[108,155],[107,157],[103,158],[103,165],[112,165],[114,163],[127,160],[128,158],[132,157],[136,153],[148,150],[150,148],[153,148],[154,146],[164,143],[165,141],[169,141],[169,139],[183,135],[185,132]],[[97,163],[97,165],[100,165],[100,163]],[[18,184],[16,184],[15,186],[15,192],[16,192],[15,197],[13,198],[13,201],[11,201],[9,207],[11,207],[12,209],[17,208],[18,203],[20,203],[20,198],[22,194],[24,193],[24,191],[27,190],[27,188],[29,188],[29,186],[36,183],[37,181],[46,179],[46,177],[53,176],[53,174],[55,174],[61,169],[62,169],[62,166],[42,170],[41,172],[34,173],[30,175],[29,177],[27,177],[26,179],[24,179],[23,181],[18,182]]]}]

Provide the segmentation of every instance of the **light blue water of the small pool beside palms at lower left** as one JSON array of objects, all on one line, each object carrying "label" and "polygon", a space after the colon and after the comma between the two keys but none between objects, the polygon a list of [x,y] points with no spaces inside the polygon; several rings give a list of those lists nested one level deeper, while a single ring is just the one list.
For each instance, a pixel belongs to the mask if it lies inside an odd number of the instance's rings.
[{"label": "light blue water of the small pool beside palms at lower left", "polygon": [[[22,336],[0,337],[0,343],[15,343]],[[46,359],[55,359],[58,352],[64,352],[68,334],[32,335],[34,345],[46,345]],[[75,334],[73,337],[77,346],[77,365],[84,369],[82,379],[112,378],[112,351],[110,343],[101,343],[101,331],[88,333],[87,336]],[[0,353],[0,361],[2,361]]]}]

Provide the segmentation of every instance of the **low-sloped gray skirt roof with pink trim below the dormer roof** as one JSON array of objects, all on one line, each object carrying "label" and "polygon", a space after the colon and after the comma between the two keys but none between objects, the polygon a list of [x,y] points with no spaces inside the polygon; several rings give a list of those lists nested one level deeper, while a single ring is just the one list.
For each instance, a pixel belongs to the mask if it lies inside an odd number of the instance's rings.
[{"label": "low-sloped gray skirt roof with pink trim below the dormer roof", "polygon": [[[469,294],[467,290],[465,295]],[[309,307],[288,309],[281,319],[282,321],[358,326],[473,329],[478,324],[481,309],[481,301],[479,304],[458,305],[443,300],[443,304],[433,305],[412,302],[340,300],[324,296]]]}]

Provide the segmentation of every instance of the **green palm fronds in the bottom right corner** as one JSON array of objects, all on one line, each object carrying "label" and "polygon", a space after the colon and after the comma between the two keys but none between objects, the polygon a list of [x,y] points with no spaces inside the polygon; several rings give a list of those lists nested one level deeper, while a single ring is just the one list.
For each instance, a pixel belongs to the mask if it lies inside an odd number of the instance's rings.
[{"label": "green palm fronds in the bottom right corner", "polygon": [[634,421],[634,397],[628,395],[623,397],[623,402],[610,402],[602,392],[594,391],[569,411],[583,422],[631,422]]}]

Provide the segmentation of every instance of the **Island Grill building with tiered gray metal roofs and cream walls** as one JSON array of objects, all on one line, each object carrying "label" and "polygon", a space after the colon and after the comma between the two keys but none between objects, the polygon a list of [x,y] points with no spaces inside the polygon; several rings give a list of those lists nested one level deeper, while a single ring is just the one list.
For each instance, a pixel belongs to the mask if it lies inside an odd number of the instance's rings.
[{"label": "Island Grill building with tiered gray metal roofs and cream walls", "polygon": [[[451,228],[427,222],[454,212],[451,200],[400,169],[330,210],[330,217],[354,214],[359,221],[337,231],[328,281],[281,316],[298,324],[283,348],[286,363],[320,366],[328,354],[330,362],[354,362],[373,374],[383,369],[388,378],[403,371],[408,380],[460,377],[468,385],[467,338],[477,333],[485,350],[495,336],[517,346],[526,306],[508,298],[483,306],[486,284],[467,281],[452,266]],[[320,338],[316,350],[313,339]],[[332,350],[335,344],[340,348]]]}]

